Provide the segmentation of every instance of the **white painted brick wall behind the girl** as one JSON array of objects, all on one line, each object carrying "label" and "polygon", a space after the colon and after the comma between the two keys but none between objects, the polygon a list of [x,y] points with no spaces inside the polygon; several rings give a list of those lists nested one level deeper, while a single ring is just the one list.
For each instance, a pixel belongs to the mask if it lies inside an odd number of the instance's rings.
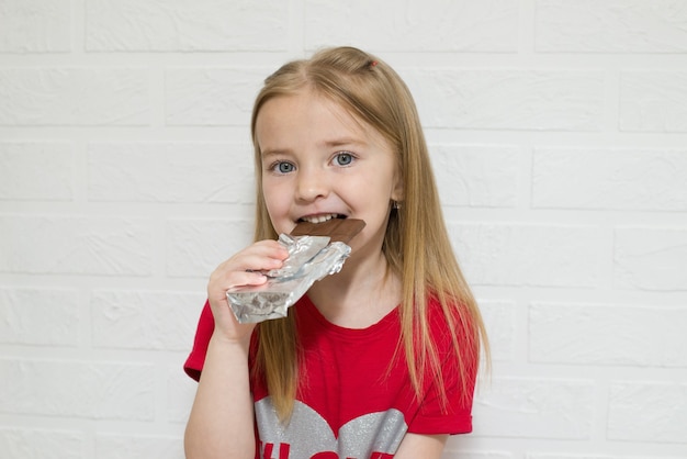
[{"label": "white painted brick wall behind the girl", "polygon": [[444,458],[687,457],[684,0],[0,0],[0,457],[182,458],[261,79],[413,90],[492,334]]}]

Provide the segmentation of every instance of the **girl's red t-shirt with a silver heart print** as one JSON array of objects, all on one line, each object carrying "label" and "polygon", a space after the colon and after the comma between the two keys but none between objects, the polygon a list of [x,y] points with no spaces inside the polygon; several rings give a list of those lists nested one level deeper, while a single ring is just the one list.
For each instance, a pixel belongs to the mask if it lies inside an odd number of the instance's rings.
[{"label": "girl's red t-shirt with a silver heart print", "polygon": [[[458,363],[441,310],[429,304],[430,328],[442,360],[448,403],[437,376],[424,374],[416,396],[399,339],[398,310],[362,329],[328,322],[306,296],[295,307],[302,350],[300,387],[291,421],[279,423],[264,381],[250,381],[259,438],[258,458],[391,458],[406,432],[462,434],[472,430],[472,390],[463,396]],[[214,321],[207,304],[184,369],[198,379]],[[459,336],[462,334],[459,333]],[[470,352],[465,352],[470,356]],[[474,359],[473,359],[474,360]],[[470,362],[470,368],[476,368]]]}]

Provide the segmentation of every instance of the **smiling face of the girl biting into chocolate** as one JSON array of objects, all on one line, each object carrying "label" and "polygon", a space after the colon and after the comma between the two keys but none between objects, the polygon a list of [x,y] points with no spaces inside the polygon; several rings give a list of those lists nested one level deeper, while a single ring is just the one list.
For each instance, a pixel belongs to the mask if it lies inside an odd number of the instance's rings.
[{"label": "smiling face of the girl biting into chocolate", "polygon": [[381,134],[335,102],[302,91],[262,105],[256,138],[278,233],[302,220],[361,219],[367,226],[351,240],[353,255],[381,250],[390,203],[403,199],[395,155]]}]

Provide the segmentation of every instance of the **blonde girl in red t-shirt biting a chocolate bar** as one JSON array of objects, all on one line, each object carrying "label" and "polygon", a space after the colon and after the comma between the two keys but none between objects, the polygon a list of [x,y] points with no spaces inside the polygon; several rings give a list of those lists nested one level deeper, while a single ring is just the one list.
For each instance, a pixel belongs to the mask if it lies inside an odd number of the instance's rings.
[{"label": "blonde girl in red t-shirt biting a chocolate bar", "polygon": [[[408,89],[369,54],[325,49],[267,78],[251,132],[256,243],[210,278],[187,456],[439,458],[472,429],[485,334]],[[279,234],[347,217],[367,225],[339,273],[285,318],[237,323],[225,293],[282,266]]]}]

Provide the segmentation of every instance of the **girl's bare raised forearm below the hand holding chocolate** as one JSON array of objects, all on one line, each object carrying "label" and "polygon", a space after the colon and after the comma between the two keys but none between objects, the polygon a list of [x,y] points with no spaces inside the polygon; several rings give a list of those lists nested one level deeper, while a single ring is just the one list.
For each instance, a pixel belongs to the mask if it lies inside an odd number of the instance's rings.
[{"label": "girl's bare raised forearm below the hand holding chocolate", "polygon": [[[216,335],[216,334],[215,334]],[[213,335],[187,425],[188,459],[255,458],[248,344]]]}]

